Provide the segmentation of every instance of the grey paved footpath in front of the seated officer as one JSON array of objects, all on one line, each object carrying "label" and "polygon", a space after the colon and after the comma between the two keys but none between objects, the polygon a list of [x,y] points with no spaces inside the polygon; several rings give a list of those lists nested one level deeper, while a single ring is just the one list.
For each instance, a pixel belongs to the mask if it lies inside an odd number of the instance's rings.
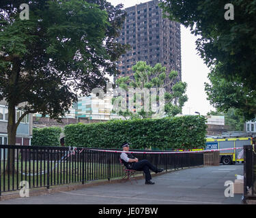
[{"label": "grey paved footpath in front of the seated officer", "polygon": [[[0,204],[242,204],[242,194],[226,198],[225,181],[243,175],[243,165],[189,168],[155,176],[155,185],[110,183],[45,196],[16,198]],[[153,173],[154,174],[154,173]]]}]

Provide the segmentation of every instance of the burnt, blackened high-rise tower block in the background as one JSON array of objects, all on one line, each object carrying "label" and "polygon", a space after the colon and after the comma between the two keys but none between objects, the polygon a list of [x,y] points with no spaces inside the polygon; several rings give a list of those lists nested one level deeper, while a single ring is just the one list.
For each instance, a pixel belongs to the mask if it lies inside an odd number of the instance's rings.
[{"label": "burnt, blackened high-rise tower block in the background", "polygon": [[[158,3],[154,0],[126,8],[126,20],[117,42],[130,44],[131,49],[117,61],[119,76],[132,77],[132,65],[146,61],[152,67],[161,63],[167,72],[176,70],[178,80],[182,79],[180,23],[163,18]],[[165,81],[168,83],[169,79]],[[171,91],[171,86],[166,91]]]}]

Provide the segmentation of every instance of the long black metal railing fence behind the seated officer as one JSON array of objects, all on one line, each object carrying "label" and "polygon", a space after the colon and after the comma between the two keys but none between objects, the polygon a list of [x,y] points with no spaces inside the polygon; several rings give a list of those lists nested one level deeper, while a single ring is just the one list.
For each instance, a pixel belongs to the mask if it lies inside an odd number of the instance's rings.
[{"label": "long black metal railing fence behind the seated officer", "polygon": [[[203,153],[155,154],[147,151],[134,156],[165,170],[203,165]],[[0,145],[0,195],[19,190],[21,181],[27,181],[29,188],[49,188],[118,178],[124,176],[119,157],[120,153],[98,149]]]}]

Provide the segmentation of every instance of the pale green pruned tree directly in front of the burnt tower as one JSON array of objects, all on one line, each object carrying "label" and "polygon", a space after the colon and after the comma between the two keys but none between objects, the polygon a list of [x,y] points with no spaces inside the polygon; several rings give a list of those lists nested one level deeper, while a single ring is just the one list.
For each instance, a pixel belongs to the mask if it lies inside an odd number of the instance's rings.
[{"label": "pale green pruned tree directly in front of the burnt tower", "polygon": [[[186,82],[175,82],[178,74],[175,71],[169,72],[167,74],[166,67],[162,67],[160,63],[157,63],[154,67],[147,65],[145,61],[139,61],[136,65],[132,66],[132,70],[134,71],[134,78],[130,78],[129,76],[120,77],[116,80],[116,84],[119,88],[124,91],[128,91],[128,89],[136,89],[146,90],[143,95],[141,95],[141,105],[137,104],[136,99],[138,97],[138,93],[136,93],[135,97],[129,96],[129,101],[134,102],[135,108],[134,112],[129,110],[131,108],[127,108],[126,111],[118,110],[116,111],[119,116],[134,118],[150,118],[152,117],[154,109],[152,108],[152,101],[159,102],[160,89],[165,89],[165,87],[171,86],[171,93],[165,92],[163,96],[163,100],[165,101],[165,114],[167,116],[175,116],[182,112],[182,107],[184,103],[188,100],[186,96]],[[169,78],[169,82],[165,84],[165,80]],[[155,94],[150,91],[151,88],[155,88]],[[149,90],[147,92],[147,90]],[[117,100],[117,98],[113,98],[113,103]],[[148,101],[147,101],[148,100]],[[148,104],[148,106],[146,105]],[[145,108],[147,107],[147,110]],[[138,111],[138,108],[141,110]],[[132,108],[133,109],[133,108]],[[135,112],[136,111],[136,112]]]}]

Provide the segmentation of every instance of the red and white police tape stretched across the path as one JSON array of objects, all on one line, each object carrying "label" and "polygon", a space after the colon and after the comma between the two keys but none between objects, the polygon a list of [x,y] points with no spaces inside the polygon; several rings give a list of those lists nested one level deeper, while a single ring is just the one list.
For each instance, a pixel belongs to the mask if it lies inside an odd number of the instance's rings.
[{"label": "red and white police tape stretched across the path", "polygon": [[[133,154],[177,154],[177,153],[202,153],[202,152],[212,152],[212,151],[229,151],[229,150],[238,150],[243,149],[242,147],[238,148],[227,148],[227,149],[211,149],[211,150],[201,150],[201,151],[125,151],[125,153],[133,153]],[[102,151],[102,152],[110,152],[110,153],[122,153],[124,151],[117,150],[103,150],[103,149],[85,149],[89,151]]]}]

